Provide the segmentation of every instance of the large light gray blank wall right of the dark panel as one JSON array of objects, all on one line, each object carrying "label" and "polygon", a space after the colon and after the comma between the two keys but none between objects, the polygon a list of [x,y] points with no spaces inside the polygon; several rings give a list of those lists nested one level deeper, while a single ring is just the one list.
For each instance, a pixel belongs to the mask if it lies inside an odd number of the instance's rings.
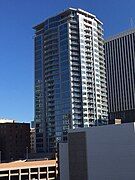
[{"label": "large light gray blank wall right of the dark panel", "polygon": [[88,180],[135,180],[134,123],[86,129]]}]

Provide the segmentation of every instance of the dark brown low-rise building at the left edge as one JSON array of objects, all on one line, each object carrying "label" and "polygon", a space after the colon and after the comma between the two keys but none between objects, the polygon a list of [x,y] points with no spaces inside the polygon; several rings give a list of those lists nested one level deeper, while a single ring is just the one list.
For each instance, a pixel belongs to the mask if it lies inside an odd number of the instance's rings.
[{"label": "dark brown low-rise building at the left edge", "polygon": [[0,121],[1,161],[25,159],[30,151],[30,124]]}]

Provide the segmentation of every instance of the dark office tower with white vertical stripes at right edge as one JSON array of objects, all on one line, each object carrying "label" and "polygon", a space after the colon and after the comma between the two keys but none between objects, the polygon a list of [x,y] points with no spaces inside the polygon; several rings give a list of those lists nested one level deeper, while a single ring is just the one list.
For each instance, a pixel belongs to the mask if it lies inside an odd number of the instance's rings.
[{"label": "dark office tower with white vertical stripes at right edge", "polygon": [[135,29],[106,40],[109,119],[135,121]]}]

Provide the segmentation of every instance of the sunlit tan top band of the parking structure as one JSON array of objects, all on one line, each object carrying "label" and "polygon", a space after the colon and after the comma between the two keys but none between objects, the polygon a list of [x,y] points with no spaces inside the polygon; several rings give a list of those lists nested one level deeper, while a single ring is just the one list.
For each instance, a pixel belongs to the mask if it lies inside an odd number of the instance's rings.
[{"label": "sunlit tan top band of the parking structure", "polygon": [[14,161],[10,163],[0,163],[0,171],[11,169],[25,169],[31,167],[55,166],[56,160],[34,160],[34,161]]}]

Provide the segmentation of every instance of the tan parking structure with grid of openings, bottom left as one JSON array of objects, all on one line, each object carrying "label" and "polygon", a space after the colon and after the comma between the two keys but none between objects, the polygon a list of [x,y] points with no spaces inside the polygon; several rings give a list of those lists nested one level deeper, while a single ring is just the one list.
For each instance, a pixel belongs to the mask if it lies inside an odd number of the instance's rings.
[{"label": "tan parking structure with grid of openings, bottom left", "polygon": [[14,161],[0,164],[0,180],[53,180],[56,160]]}]

